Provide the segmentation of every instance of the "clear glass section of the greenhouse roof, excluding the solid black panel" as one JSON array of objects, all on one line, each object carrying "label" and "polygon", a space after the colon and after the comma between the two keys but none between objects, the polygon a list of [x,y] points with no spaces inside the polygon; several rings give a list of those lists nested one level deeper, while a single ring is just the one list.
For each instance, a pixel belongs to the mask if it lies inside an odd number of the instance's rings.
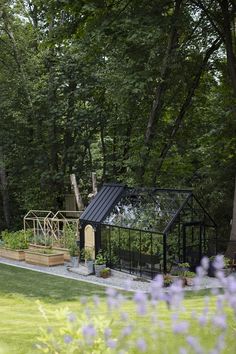
[{"label": "clear glass section of the greenhouse roof, excluding the solid black panel", "polygon": [[162,234],[191,196],[190,190],[126,187],[102,224]]}]

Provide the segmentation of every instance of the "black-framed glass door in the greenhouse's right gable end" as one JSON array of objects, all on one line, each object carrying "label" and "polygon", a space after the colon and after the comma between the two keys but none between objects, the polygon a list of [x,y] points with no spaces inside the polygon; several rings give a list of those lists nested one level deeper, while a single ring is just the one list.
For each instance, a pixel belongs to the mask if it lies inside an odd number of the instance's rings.
[{"label": "black-framed glass door in the greenhouse's right gable end", "polygon": [[202,258],[204,225],[200,222],[183,224],[183,261],[191,268],[199,265]]}]

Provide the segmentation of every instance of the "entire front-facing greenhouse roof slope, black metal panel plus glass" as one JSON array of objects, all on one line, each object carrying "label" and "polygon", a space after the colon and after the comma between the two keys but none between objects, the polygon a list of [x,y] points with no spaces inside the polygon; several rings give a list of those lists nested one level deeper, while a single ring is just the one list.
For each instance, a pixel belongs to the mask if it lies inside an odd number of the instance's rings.
[{"label": "entire front-facing greenhouse roof slope, black metal panel plus glass", "polygon": [[191,190],[130,188],[105,184],[80,217],[81,224],[103,224],[165,233],[193,196]]}]

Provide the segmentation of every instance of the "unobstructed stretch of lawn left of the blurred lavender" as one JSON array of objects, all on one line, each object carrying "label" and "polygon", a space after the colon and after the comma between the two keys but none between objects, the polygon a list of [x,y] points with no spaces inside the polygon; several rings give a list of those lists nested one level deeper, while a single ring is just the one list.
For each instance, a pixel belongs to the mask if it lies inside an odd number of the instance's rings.
[{"label": "unobstructed stretch of lawn left of the blurred lavender", "polygon": [[44,325],[36,300],[76,312],[81,297],[95,294],[104,297],[104,287],[0,264],[0,354],[32,353]]}]

